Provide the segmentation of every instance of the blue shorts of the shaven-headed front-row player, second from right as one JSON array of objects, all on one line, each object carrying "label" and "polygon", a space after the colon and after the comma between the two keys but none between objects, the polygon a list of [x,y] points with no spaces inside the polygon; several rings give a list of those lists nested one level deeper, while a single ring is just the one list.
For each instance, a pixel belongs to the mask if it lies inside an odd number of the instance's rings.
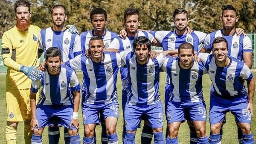
[{"label": "blue shorts of the shaven-headed front-row player, second from right", "polygon": [[192,105],[181,105],[172,102],[167,105],[166,120],[168,124],[177,121],[206,121],[207,111],[204,102],[197,102]]}]

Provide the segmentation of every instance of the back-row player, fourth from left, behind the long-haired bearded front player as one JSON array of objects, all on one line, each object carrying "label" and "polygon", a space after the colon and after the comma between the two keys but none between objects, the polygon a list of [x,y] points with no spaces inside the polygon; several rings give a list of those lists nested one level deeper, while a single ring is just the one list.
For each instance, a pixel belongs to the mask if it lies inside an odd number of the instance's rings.
[{"label": "back-row player, fourth from left, behind the long-haired bearded front player", "polygon": [[[116,37],[113,42],[109,45],[109,48],[115,48],[119,50],[125,50],[125,51],[133,51],[133,45],[132,42],[135,38],[139,36],[147,37],[152,45],[157,45],[157,40],[154,39],[154,37],[145,31],[138,31],[138,27],[140,26],[140,13],[135,8],[126,8],[124,12],[124,25],[125,25],[125,31],[127,31],[127,38],[122,39],[120,37]],[[159,46],[159,44],[158,44]],[[153,54],[152,54],[153,55]],[[121,72],[121,80],[122,80],[122,109],[124,114],[125,104],[127,100],[127,85],[128,85],[128,79],[127,79],[127,68],[120,68]],[[147,118],[143,118],[144,120]],[[149,127],[146,121],[142,134],[141,134],[141,141],[144,143],[151,143],[153,133],[152,129]],[[123,139],[125,138],[125,125],[123,127]]]}]

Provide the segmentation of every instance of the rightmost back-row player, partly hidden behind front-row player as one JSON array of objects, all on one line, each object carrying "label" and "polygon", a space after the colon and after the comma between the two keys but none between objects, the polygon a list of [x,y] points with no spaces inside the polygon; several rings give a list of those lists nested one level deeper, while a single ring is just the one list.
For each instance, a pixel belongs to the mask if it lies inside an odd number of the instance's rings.
[{"label": "rightmost back-row player, partly hidden behind front-row player", "polygon": [[[208,34],[205,38],[204,47],[200,52],[210,53],[212,51],[212,42],[216,37],[224,37],[229,44],[229,56],[233,56],[239,60],[243,60],[244,63],[252,68],[253,63],[253,53],[252,53],[252,43],[249,37],[244,35],[238,35],[235,32],[236,23],[239,20],[237,16],[236,8],[227,5],[224,7],[222,14],[220,16],[223,28],[218,31],[213,31]],[[239,144],[242,143],[242,131],[240,127],[237,127]],[[222,138],[222,127],[221,127],[221,138]]]}]

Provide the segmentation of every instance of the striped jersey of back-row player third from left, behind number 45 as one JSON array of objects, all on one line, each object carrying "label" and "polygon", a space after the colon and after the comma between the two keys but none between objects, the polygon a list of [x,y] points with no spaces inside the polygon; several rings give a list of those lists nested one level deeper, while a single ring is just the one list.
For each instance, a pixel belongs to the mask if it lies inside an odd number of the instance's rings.
[{"label": "striped jersey of back-row player third from left, behind number 45", "polygon": [[[80,35],[80,37],[81,37],[81,48],[82,48],[82,53],[83,54],[85,54],[86,49],[89,48],[90,38],[92,38],[94,36],[93,31],[94,30],[84,31]],[[110,45],[112,40],[115,37],[118,37],[118,34],[112,32],[112,31],[108,31],[108,30],[105,30],[105,31],[106,31],[105,34],[101,38],[104,42],[105,48],[108,48],[108,46]]]}]

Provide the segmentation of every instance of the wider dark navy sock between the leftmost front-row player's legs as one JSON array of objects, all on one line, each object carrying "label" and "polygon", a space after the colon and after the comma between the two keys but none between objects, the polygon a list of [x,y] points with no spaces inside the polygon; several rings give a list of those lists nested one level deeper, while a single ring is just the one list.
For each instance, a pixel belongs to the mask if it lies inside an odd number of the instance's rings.
[{"label": "wider dark navy sock between the leftmost front-row player's legs", "polygon": [[48,127],[48,138],[49,144],[58,144],[58,141],[60,139],[60,128]]}]

